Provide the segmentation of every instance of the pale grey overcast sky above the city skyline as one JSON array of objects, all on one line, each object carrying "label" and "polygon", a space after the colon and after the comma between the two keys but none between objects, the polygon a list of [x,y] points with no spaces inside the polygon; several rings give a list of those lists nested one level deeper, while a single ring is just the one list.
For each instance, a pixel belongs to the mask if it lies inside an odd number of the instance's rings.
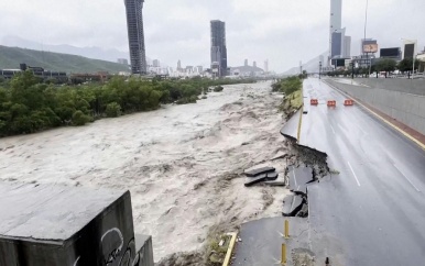
[{"label": "pale grey overcast sky above the city skyline", "polygon": [[[146,54],[175,67],[209,65],[209,21],[226,22],[230,66],[284,71],[328,49],[330,0],[145,0]],[[342,26],[360,51],[366,0],[344,0]],[[425,0],[369,0],[368,37],[380,47],[401,37],[425,45]],[[74,46],[128,51],[123,0],[13,0],[0,8],[0,40],[7,35]]]}]

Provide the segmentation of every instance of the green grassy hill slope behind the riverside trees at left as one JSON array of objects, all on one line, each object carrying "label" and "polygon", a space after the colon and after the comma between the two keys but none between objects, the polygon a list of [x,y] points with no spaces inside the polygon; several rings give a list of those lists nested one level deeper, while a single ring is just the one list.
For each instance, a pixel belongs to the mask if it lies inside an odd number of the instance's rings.
[{"label": "green grassy hill slope behind the riverside trees at left", "polygon": [[21,63],[46,70],[66,73],[98,73],[117,74],[129,71],[128,67],[118,63],[90,59],[78,55],[24,49],[0,45],[0,69],[17,69]]}]

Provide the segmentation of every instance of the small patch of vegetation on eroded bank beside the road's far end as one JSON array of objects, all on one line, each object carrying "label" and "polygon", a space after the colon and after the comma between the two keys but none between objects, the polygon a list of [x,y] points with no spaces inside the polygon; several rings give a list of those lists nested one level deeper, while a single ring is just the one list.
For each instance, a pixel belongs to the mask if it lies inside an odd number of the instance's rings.
[{"label": "small patch of vegetation on eroded bank beside the road's far end", "polygon": [[303,106],[303,79],[299,77],[288,77],[281,79],[272,85],[273,91],[285,93],[285,98],[281,104],[281,111],[286,115],[292,115]]}]

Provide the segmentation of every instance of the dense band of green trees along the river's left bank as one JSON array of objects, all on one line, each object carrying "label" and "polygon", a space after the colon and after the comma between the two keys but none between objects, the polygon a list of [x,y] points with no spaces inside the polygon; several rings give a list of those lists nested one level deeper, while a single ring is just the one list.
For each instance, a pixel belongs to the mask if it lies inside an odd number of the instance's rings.
[{"label": "dense band of green trees along the river's left bank", "polygon": [[252,82],[231,79],[143,80],[113,77],[85,86],[45,84],[31,71],[0,80],[0,137],[61,125],[84,125],[105,117],[150,111],[161,103],[196,102],[210,86]]}]

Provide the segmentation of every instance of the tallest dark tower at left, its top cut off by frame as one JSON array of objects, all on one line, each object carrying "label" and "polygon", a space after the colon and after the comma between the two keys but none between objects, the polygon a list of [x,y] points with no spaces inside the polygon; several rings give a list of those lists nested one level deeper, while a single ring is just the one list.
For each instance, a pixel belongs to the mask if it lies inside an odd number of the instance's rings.
[{"label": "tallest dark tower at left, its top cut off by frame", "polygon": [[127,30],[129,34],[130,63],[132,74],[146,74],[146,52],[143,31],[144,0],[124,0]]}]

